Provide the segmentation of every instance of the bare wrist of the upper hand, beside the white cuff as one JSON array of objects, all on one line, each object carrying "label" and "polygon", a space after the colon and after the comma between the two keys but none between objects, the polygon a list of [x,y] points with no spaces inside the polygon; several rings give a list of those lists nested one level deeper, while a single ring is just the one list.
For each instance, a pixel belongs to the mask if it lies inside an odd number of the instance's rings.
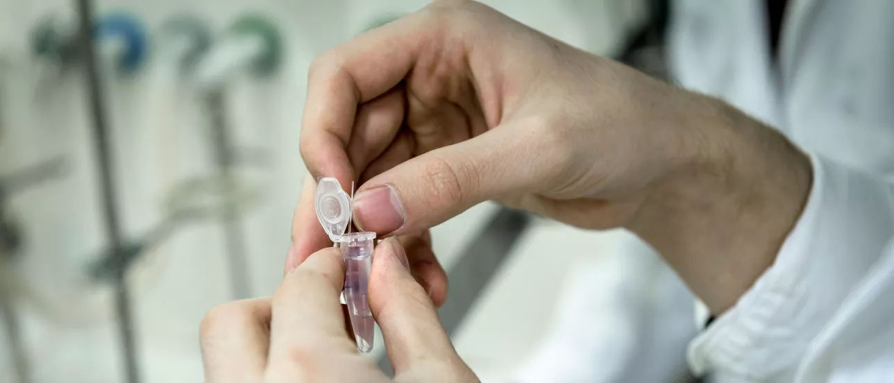
[{"label": "bare wrist of the upper hand, beside the white cuff", "polygon": [[687,149],[628,229],[719,314],[772,265],[804,208],[812,169],[778,131],[728,104],[695,96],[686,111],[679,131]]}]

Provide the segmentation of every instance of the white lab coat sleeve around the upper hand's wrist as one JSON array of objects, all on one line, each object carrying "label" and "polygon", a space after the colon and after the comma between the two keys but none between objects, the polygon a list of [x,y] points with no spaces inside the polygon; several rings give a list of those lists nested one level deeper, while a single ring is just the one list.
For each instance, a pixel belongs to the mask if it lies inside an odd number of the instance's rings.
[{"label": "white lab coat sleeve around the upper hand's wrist", "polygon": [[[772,267],[689,346],[697,375],[791,381],[894,233],[894,186],[816,155],[805,210]],[[724,377],[729,379],[723,379]]]}]

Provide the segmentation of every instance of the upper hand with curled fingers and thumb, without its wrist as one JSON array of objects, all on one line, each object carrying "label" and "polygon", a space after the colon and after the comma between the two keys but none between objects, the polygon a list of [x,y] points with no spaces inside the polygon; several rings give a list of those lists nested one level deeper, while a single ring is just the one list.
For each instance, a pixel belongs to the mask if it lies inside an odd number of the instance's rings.
[{"label": "upper hand with curled fingers and thumb, without its wrist", "polygon": [[[300,148],[313,177],[359,180],[355,222],[380,235],[488,199],[610,228],[693,150],[669,125],[694,98],[483,4],[436,1],[316,59]],[[322,232],[312,201],[295,214],[302,254],[325,243],[307,234]]]}]

